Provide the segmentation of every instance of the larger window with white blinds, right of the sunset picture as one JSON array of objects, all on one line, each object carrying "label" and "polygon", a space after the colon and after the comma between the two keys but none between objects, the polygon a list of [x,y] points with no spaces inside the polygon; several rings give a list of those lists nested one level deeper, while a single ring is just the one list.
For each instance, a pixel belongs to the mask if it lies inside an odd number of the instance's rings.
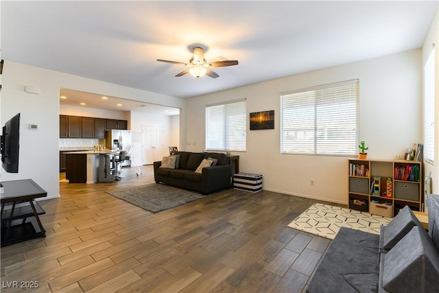
[{"label": "larger window with white blinds, right of the sunset picture", "polygon": [[358,80],[281,94],[281,153],[355,155]]}]

